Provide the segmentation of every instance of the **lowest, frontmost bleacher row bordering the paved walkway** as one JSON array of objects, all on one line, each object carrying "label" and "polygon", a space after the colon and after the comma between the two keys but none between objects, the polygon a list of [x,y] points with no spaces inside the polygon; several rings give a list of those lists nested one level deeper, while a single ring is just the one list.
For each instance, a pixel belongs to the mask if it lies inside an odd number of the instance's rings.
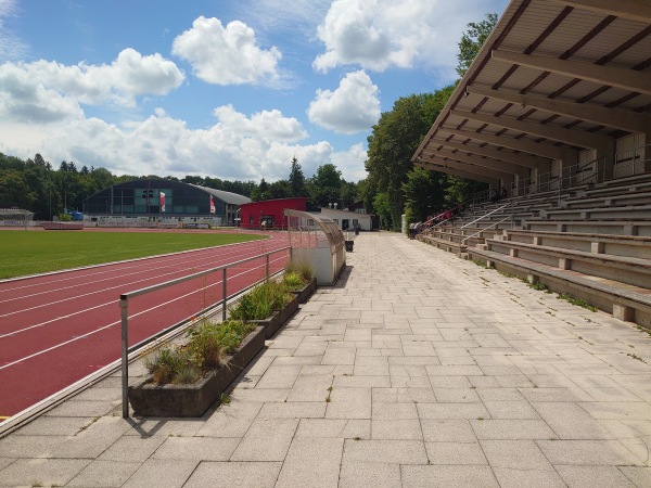
[{"label": "lowest, frontmost bleacher row bordering the paved walkway", "polygon": [[613,314],[618,320],[651,328],[651,291],[616,280],[560,269],[493,251],[469,248],[468,258],[509,272],[529,283],[541,283],[557,293],[567,293]]}]

